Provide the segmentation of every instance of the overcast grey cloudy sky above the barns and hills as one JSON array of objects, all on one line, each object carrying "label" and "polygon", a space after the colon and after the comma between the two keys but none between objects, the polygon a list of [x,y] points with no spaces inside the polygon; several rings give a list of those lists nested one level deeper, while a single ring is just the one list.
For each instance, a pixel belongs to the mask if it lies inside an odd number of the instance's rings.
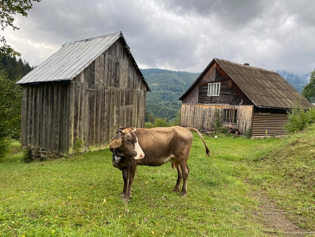
[{"label": "overcast grey cloudy sky above the barns and hills", "polygon": [[8,43],[37,66],[65,42],[122,31],[141,69],[202,72],[218,57],[268,70],[315,68],[313,0],[42,0]]}]

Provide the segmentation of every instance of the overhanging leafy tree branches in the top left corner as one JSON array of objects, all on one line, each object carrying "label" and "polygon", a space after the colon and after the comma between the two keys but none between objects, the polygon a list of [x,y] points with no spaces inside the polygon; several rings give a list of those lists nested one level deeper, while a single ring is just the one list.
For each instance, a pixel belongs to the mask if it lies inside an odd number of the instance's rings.
[{"label": "overhanging leafy tree branches in the top left corner", "polygon": [[[8,26],[12,27],[13,30],[19,30],[20,28],[14,24],[14,16],[21,14],[27,17],[27,11],[32,9],[32,2],[40,2],[40,0],[0,0],[0,24],[1,30],[4,30]],[[0,35],[0,53],[1,54],[12,54],[21,55],[15,51],[8,43],[4,36]]]}]

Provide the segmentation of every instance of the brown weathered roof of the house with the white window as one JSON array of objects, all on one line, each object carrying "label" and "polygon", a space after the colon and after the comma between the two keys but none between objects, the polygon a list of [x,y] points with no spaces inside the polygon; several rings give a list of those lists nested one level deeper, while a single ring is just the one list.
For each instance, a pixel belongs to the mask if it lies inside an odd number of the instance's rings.
[{"label": "brown weathered roof of the house with the white window", "polygon": [[290,108],[297,100],[304,107],[312,106],[307,99],[278,73],[249,65],[232,63],[219,58],[213,58],[192,86],[181,96],[180,100],[190,93],[192,88],[198,84],[199,80],[214,63],[217,63],[222,68],[257,107]]}]

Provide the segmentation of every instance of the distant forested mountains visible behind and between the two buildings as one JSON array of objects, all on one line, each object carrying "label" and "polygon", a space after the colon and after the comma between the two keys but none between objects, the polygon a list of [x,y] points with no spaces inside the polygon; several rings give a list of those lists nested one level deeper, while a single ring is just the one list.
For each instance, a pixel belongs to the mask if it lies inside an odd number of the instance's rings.
[{"label": "distant forested mountains visible behind and between the two buildings", "polygon": [[[155,118],[172,121],[181,108],[178,100],[198,78],[200,73],[177,72],[165,69],[140,69],[151,89],[146,94],[146,113]],[[309,83],[310,74],[297,75],[284,70],[276,70],[299,93]]]}]

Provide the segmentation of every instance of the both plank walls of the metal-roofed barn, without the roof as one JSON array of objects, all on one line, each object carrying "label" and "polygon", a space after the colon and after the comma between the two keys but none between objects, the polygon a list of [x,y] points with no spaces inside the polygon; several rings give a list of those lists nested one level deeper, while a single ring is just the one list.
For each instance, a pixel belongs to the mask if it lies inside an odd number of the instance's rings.
[{"label": "both plank walls of the metal-roofed barn, without the roof", "polygon": [[119,38],[71,81],[22,84],[21,143],[59,154],[108,148],[116,130],[144,126],[149,90]]}]

